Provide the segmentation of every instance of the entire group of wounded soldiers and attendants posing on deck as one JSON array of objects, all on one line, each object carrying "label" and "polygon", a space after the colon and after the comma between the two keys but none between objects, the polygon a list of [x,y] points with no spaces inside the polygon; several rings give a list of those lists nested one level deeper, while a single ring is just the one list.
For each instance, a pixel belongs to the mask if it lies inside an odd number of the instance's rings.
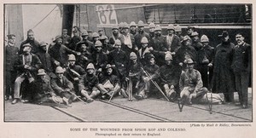
[{"label": "entire group of wounded soldiers and attendants posing on deck", "polygon": [[76,29],[73,37],[63,29],[50,44],[38,43],[29,30],[20,49],[15,35],[9,34],[5,99],[12,96],[13,104],[21,100],[69,105],[77,99],[110,101],[122,95],[129,100],[155,96],[192,104],[209,101],[212,89],[214,102],[234,102],[237,91],[238,104],[247,108],[252,57],[243,34],[236,34],[235,45],[224,31],[218,36],[222,43],[213,48],[193,26],[185,36],[178,25],[168,25],[166,36],[160,25],[150,23],[149,32],[144,26],[141,20],[121,22],[108,37],[103,29]]}]

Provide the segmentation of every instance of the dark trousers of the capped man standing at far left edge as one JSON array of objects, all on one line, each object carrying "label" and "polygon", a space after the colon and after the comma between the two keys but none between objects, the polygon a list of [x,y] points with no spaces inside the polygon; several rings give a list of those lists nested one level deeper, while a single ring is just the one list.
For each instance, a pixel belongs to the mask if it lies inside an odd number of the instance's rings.
[{"label": "dark trousers of the capped man standing at far left edge", "polygon": [[6,71],[5,72],[5,96],[9,98],[9,95],[14,96],[15,89],[15,71]]}]

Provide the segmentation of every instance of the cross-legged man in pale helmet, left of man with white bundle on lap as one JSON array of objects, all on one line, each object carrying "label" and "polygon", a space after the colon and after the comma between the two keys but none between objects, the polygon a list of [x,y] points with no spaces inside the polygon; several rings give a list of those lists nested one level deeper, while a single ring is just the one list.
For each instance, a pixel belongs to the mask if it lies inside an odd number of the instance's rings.
[{"label": "cross-legged man in pale helmet, left of man with white bundle on lap", "polygon": [[[92,63],[89,63],[86,67],[86,74],[79,80],[79,91],[82,96],[84,96],[87,102],[94,101],[97,95],[101,94],[99,89],[99,79],[95,75],[95,67]],[[105,91],[107,93],[108,91]],[[104,93],[102,94],[104,95]]]}]

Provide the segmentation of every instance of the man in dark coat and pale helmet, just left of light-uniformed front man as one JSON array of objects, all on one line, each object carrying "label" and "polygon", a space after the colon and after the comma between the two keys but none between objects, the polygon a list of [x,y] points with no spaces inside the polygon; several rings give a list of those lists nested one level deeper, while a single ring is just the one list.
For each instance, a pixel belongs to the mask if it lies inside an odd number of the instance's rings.
[{"label": "man in dark coat and pale helmet, just left of light-uniformed front man", "polygon": [[178,81],[181,73],[181,67],[173,65],[172,55],[170,53],[166,54],[165,60],[166,65],[160,66],[157,74],[160,77],[160,86],[164,89],[166,96],[170,101],[174,101],[179,93]]}]

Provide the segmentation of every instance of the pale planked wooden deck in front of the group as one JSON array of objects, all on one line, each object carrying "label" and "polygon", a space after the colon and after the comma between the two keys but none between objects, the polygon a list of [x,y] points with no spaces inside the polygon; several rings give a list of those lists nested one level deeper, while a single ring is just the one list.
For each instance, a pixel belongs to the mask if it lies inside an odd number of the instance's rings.
[{"label": "pale planked wooden deck in front of the group", "polygon": [[[237,95],[235,96],[237,101]],[[252,122],[252,89],[249,106],[242,109],[233,104],[183,106],[161,99],[128,101],[116,97],[108,103],[96,100],[89,104],[74,102],[72,107],[61,108],[5,101],[6,122]]]}]

